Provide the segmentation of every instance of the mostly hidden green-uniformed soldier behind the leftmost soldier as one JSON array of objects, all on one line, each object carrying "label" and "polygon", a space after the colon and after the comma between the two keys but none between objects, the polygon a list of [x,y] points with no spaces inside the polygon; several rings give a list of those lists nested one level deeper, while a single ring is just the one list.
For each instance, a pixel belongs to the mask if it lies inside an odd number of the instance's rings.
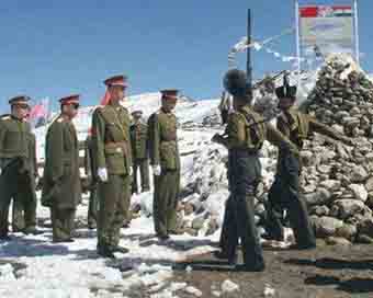
[{"label": "mostly hidden green-uniformed soldier behind the leftmost soldier", "polygon": [[[36,184],[38,180],[37,160],[36,160],[36,139],[34,134],[29,135],[29,159],[30,159],[30,180],[29,192],[30,199],[25,202],[22,197],[13,200],[12,209],[12,230],[23,231],[25,233],[39,234],[42,231],[36,229]],[[26,225],[27,222],[27,225]]]}]

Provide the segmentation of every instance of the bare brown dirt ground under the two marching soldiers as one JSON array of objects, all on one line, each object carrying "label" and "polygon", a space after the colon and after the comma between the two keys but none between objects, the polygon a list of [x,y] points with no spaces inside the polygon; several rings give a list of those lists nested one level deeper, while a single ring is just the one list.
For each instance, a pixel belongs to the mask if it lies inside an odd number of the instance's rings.
[{"label": "bare brown dirt ground under the two marching soldiers", "polygon": [[[227,266],[211,264],[208,256],[193,260],[194,270],[176,268],[174,280],[187,282],[202,290],[202,297],[215,297],[225,279],[239,285],[240,290],[221,297],[264,297],[265,286],[284,298],[373,297],[373,245],[319,247],[313,251],[264,252],[264,273],[237,273]],[[210,263],[210,264],[208,264]],[[193,297],[178,293],[179,297]]]}]

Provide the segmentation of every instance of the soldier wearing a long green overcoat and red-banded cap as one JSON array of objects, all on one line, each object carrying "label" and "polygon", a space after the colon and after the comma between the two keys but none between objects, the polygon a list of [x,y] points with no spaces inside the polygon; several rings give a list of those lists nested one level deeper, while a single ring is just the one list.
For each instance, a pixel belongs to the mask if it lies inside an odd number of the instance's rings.
[{"label": "soldier wearing a long green overcoat and red-banded cap", "polygon": [[50,208],[53,242],[72,242],[75,213],[81,199],[79,145],[72,124],[79,95],[59,102],[61,113],[46,135],[42,204]]}]

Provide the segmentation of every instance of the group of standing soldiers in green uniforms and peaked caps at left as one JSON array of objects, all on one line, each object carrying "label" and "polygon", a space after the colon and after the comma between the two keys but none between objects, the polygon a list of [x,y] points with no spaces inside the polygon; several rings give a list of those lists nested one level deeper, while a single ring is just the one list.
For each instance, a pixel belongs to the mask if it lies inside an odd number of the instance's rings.
[{"label": "group of standing soldiers in green uniforms and peaked caps at left", "polygon": [[[167,240],[176,231],[180,158],[177,119],[172,113],[178,90],[161,91],[161,107],[148,125],[142,112],[122,105],[127,88],[125,76],[104,81],[109,103],[98,107],[87,139],[86,164],[90,169],[89,227],[98,229],[98,253],[114,257],[126,253],[120,247],[120,230],[128,227],[132,193],[137,192],[137,170],[142,192],[149,191],[148,159],[154,173],[154,218],[157,237]],[[0,239],[9,237],[9,209],[13,199],[12,231],[38,234],[35,184],[38,176],[36,145],[26,116],[30,98],[9,101],[11,114],[0,118]],[[60,114],[49,125],[45,140],[42,204],[50,208],[53,242],[74,241],[74,219],[81,199],[79,142],[72,119],[78,114],[79,95],[59,100]],[[134,177],[134,179],[133,179]],[[134,181],[133,181],[134,180]]]}]

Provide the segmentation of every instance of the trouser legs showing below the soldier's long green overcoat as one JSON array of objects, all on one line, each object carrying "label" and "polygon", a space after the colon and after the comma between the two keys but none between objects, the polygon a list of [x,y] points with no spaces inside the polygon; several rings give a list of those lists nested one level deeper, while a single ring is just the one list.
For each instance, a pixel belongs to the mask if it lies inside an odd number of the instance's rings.
[{"label": "trouser legs showing below the soldier's long green overcoat", "polygon": [[64,241],[72,238],[75,230],[75,209],[50,208],[53,241]]}]

